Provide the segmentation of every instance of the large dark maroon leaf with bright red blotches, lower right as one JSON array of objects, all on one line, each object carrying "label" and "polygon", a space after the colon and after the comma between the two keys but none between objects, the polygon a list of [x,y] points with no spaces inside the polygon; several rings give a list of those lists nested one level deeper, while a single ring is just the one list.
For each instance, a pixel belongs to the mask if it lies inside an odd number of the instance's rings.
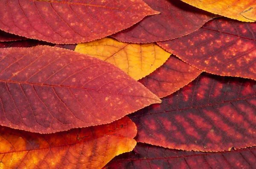
[{"label": "large dark maroon leaf with bright red blotches, lower right", "polygon": [[172,149],[223,151],[256,145],[256,82],[203,74],[131,119],[136,140]]}]

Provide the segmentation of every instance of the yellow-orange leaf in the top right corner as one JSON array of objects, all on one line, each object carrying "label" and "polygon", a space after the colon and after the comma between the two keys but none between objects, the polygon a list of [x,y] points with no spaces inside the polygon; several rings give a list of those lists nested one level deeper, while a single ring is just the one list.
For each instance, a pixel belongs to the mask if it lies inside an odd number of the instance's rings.
[{"label": "yellow-orange leaf in the top right corner", "polygon": [[244,21],[256,21],[255,0],[182,0],[192,6],[224,17]]}]

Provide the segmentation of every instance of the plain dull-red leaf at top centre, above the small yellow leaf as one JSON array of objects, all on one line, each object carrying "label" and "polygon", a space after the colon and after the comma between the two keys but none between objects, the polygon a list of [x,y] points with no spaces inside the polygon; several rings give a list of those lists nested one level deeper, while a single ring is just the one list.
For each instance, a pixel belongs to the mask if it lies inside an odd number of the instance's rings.
[{"label": "plain dull-red leaf at top centre, above the small yellow leaf", "polygon": [[183,37],[199,29],[214,15],[180,0],[144,0],[158,15],[145,17],[124,31],[111,35],[122,42],[150,43]]}]

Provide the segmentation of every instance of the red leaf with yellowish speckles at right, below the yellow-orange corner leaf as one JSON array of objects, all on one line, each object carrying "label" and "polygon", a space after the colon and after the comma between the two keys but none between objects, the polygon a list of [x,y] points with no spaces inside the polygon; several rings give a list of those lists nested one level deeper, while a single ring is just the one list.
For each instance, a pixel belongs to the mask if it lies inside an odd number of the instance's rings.
[{"label": "red leaf with yellowish speckles at right, below the yellow-orange corner leaf", "polygon": [[256,23],[218,18],[185,37],[158,42],[209,73],[256,79]]}]

